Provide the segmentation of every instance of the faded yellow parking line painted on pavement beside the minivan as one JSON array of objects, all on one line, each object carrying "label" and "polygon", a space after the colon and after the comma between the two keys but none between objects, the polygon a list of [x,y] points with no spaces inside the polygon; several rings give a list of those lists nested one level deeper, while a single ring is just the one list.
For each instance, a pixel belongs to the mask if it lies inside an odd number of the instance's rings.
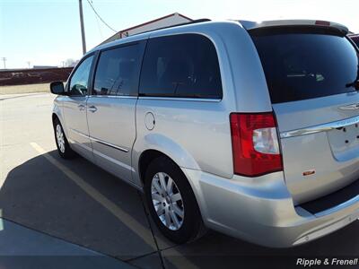
[{"label": "faded yellow parking line painted on pavement beside the minivan", "polygon": [[[153,237],[147,235],[148,232],[146,228],[144,228],[140,222],[136,221],[130,214],[121,210],[116,204],[109,201],[107,197],[102,195],[94,187],[85,182],[83,178],[78,176],[71,169],[68,169],[64,164],[57,161],[54,157],[48,154],[48,152],[41,148],[38,143],[31,142],[30,144],[35,151],[39,152],[49,162],[55,165],[57,169],[60,169],[67,176],[67,178],[70,178],[72,181],[74,181],[74,183],[78,187],[81,187],[87,195],[90,195],[93,200],[105,207],[110,213],[118,218],[119,221],[123,222],[130,230],[133,230],[141,239],[144,239],[148,245],[151,246],[153,244]],[[149,234],[152,235],[151,232]],[[162,240],[157,239],[157,241],[161,242]],[[176,251],[175,249],[173,249],[173,251],[176,255],[175,259],[171,261],[173,264],[179,263],[180,265],[186,265],[186,268],[188,269],[198,268],[197,265],[192,264],[186,257],[181,256],[180,252]]]}]

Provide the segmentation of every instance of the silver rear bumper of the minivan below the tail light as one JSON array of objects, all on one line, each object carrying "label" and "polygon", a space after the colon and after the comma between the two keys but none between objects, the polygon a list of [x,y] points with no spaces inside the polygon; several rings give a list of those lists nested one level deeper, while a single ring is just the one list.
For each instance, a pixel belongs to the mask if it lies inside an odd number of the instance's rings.
[{"label": "silver rear bumper of the minivan below the tail light", "polygon": [[359,218],[359,196],[316,214],[294,206],[282,172],[228,179],[182,170],[194,189],[208,228],[258,245],[292,247]]}]

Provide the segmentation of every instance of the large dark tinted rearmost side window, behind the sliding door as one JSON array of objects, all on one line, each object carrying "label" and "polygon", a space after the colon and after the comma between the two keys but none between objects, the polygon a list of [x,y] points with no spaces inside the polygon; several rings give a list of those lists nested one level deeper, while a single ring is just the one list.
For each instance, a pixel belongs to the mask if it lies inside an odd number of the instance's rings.
[{"label": "large dark tinted rearmost side window, behind the sliding door", "polygon": [[149,39],[139,93],[221,99],[221,75],[214,44],[197,34]]}]

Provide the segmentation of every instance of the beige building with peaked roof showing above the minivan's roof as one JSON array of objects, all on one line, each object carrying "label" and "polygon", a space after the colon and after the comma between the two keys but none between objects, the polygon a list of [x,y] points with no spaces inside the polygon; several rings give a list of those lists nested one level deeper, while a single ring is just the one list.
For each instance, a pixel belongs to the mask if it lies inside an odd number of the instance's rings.
[{"label": "beige building with peaked roof showing above the minivan's roof", "polygon": [[135,35],[137,33],[141,33],[148,30],[156,30],[163,27],[168,27],[171,25],[176,25],[180,23],[192,22],[193,20],[180,14],[180,13],[172,13],[167,16],[155,19],[150,22],[144,22],[142,24],[127,28],[125,30],[120,30],[118,33],[114,34],[109,39],[106,39],[101,44],[108,43],[110,41],[116,39],[126,38],[128,36]]}]

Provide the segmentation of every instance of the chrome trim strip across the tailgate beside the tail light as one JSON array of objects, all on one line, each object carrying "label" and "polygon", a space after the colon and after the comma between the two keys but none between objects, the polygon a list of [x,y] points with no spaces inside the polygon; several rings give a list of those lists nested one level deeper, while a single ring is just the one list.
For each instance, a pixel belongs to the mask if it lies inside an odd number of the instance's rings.
[{"label": "chrome trim strip across the tailgate beside the tail light", "polygon": [[345,127],[345,126],[355,125],[358,123],[359,123],[359,116],[348,117],[346,119],[329,122],[327,124],[322,124],[322,125],[318,125],[318,126],[310,126],[310,127],[306,127],[306,128],[302,128],[302,129],[281,132],[280,137],[288,138],[288,137],[305,135],[305,134],[315,134],[315,133],[330,131],[330,130]]}]

